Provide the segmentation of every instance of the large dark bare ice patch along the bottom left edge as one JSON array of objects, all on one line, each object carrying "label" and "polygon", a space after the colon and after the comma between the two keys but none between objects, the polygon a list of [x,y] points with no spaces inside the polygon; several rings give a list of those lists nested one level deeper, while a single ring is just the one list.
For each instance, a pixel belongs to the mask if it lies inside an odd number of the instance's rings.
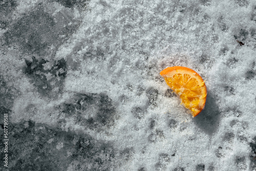
[{"label": "large dark bare ice patch along the bottom left edge", "polygon": [[[10,170],[113,170],[116,150],[110,142],[88,134],[61,131],[46,124],[11,124]],[[24,158],[26,156],[26,158]],[[79,163],[76,165],[75,163]]]}]

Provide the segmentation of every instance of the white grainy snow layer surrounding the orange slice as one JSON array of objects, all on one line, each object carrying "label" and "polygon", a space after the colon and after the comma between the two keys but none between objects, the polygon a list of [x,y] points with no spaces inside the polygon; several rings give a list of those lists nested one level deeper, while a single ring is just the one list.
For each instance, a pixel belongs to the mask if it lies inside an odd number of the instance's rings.
[{"label": "white grainy snow layer surrounding the orange slice", "polygon": [[[23,1],[17,8],[28,7]],[[67,61],[58,98],[38,94],[20,69],[31,55],[20,57],[15,49],[2,53],[1,73],[20,92],[13,123],[54,126],[64,118],[62,130],[87,133],[120,151],[131,149],[127,160],[110,170],[256,170],[250,145],[256,140],[255,1],[92,0],[72,12],[79,27],[53,57],[45,57]],[[195,118],[159,75],[173,66],[191,68],[205,80],[205,110]],[[88,93],[111,99],[113,124],[90,129],[56,109]],[[37,110],[27,112],[28,104]],[[94,108],[82,118],[96,115]]]}]

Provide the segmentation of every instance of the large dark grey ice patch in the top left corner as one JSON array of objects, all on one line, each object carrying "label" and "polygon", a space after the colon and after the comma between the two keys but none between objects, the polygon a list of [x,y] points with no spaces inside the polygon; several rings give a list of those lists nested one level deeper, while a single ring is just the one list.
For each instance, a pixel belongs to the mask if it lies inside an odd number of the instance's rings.
[{"label": "large dark grey ice patch in the top left corner", "polygon": [[59,47],[78,26],[71,15],[62,10],[54,18],[37,5],[34,11],[13,21],[15,23],[4,33],[5,42],[7,45],[17,44],[24,53],[53,55],[56,49],[51,47]]}]

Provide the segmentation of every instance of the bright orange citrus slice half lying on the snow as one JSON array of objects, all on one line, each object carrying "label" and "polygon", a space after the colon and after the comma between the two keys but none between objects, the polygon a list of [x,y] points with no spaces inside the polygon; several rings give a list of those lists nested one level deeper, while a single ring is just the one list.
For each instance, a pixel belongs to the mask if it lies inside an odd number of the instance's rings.
[{"label": "bright orange citrus slice half lying on the snow", "polygon": [[196,71],[176,66],[164,69],[160,75],[193,117],[204,109],[207,90],[203,78]]}]

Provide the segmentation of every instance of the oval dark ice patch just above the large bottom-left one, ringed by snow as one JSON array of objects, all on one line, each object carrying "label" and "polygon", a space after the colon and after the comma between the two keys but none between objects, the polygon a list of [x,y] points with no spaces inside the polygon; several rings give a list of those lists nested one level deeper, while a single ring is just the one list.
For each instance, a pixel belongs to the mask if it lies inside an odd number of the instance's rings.
[{"label": "oval dark ice patch just above the large bottom-left one, ringed by snow", "polygon": [[112,99],[103,93],[76,94],[72,102],[61,104],[60,110],[90,129],[112,126],[117,114]]}]

